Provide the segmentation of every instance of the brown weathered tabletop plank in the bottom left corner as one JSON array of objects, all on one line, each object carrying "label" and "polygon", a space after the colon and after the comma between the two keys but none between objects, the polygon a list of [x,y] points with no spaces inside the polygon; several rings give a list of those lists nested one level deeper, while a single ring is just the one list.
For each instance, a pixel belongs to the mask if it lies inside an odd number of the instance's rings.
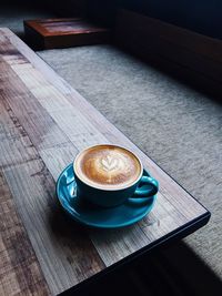
[{"label": "brown weathered tabletop plank in the bottom left corner", "polygon": [[28,234],[0,170],[0,295],[49,295]]}]

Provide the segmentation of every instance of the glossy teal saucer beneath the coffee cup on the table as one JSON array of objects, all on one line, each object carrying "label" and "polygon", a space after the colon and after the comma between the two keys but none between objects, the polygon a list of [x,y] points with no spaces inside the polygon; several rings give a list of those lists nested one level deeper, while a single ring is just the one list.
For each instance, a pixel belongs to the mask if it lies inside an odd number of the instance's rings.
[{"label": "glossy teal saucer beneath the coffee cup on the table", "polygon": [[[149,175],[147,171],[144,175]],[[62,208],[77,222],[99,228],[119,228],[131,225],[143,218],[153,207],[155,196],[144,203],[140,198],[129,198],[115,207],[91,205],[77,196],[77,184],[72,164],[68,165],[57,181],[57,196]],[[135,201],[134,201],[135,200]]]}]

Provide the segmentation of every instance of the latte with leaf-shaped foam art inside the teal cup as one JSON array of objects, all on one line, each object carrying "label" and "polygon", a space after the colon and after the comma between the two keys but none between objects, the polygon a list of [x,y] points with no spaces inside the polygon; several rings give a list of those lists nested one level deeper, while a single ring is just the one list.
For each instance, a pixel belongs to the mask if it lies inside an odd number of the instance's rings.
[{"label": "latte with leaf-shaped foam art inside the teal cup", "polygon": [[141,177],[142,166],[130,151],[114,145],[97,145],[84,150],[74,162],[74,171],[88,185],[124,188]]}]

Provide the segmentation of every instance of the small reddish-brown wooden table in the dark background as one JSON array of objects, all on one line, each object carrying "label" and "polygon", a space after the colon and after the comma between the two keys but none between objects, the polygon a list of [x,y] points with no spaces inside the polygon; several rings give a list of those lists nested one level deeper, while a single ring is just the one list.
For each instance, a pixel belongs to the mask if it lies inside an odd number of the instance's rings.
[{"label": "small reddish-brown wooden table in the dark background", "polygon": [[24,34],[34,49],[57,49],[105,43],[110,31],[82,18],[26,20]]}]

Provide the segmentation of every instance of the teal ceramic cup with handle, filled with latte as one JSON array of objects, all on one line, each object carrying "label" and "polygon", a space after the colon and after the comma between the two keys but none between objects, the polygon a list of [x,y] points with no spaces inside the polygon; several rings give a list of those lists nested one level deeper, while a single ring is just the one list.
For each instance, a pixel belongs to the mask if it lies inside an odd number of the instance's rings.
[{"label": "teal ceramic cup with handle, filled with latte", "polygon": [[140,204],[158,193],[158,181],[143,175],[138,156],[125,147],[102,144],[81,151],[73,162],[77,193],[94,205]]}]

